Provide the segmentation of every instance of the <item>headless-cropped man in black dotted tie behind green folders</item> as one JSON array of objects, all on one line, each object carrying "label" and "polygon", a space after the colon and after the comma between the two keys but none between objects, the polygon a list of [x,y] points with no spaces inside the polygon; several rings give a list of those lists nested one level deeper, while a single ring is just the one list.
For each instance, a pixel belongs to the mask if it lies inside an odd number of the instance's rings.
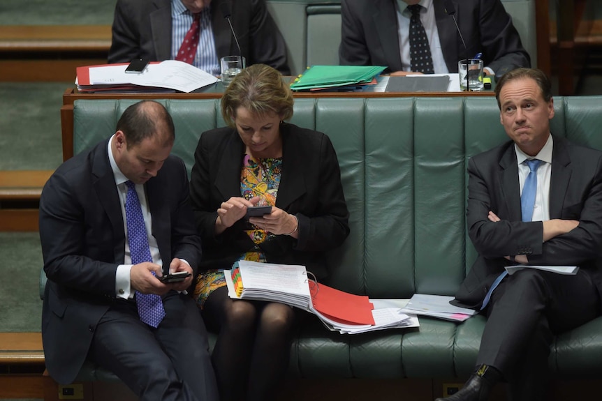
[{"label": "headless-cropped man in black dotted tie behind green folders", "polygon": [[[531,66],[499,0],[342,0],[341,16],[342,65],[386,66],[392,75],[457,73],[458,61],[482,53],[485,71],[496,78]],[[422,54],[412,54],[422,44]]]}]

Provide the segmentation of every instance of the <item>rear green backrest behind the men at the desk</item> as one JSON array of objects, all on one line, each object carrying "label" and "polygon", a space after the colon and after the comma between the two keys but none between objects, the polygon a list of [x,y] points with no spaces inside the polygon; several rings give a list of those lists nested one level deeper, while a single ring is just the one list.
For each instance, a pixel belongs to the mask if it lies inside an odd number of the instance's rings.
[{"label": "rear green backrest behind the men at the desk", "polygon": [[[501,0],[524,49],[537,66],[535,0]],[[266,0],[288,47],[288,66],[298,75],[307,66],[336,66],[341,43],[340,0]]]}]

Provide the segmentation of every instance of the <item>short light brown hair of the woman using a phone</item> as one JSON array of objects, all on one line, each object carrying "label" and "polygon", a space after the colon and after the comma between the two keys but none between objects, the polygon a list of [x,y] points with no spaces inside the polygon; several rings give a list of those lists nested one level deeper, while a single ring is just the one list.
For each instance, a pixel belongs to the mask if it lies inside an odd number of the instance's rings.
[{"label": "short light brown hair of the woman using a phone", "polygon": [[238,74],[221,98],[221,115],[233,127],[236,109],[244,107],[251,114],[263,116],[273,112],[281,120],[293,116],[293,91],[282,75],[265,64],[254,64]]}]

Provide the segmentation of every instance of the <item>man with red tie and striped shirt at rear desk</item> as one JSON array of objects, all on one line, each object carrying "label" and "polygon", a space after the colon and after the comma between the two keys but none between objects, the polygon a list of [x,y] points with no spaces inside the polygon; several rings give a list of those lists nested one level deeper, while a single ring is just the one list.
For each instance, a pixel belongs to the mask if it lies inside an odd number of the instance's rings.
[{"label": "man with red tie and striped shirt at rear desk", "polygon": [[[190,47],[187,36],[198,40]],[[291,73],[284,38],[264,0],[117,0],[109,63],[180,60],[220,75],[219,59],[239,54],[247,66],[264,63]]]}]

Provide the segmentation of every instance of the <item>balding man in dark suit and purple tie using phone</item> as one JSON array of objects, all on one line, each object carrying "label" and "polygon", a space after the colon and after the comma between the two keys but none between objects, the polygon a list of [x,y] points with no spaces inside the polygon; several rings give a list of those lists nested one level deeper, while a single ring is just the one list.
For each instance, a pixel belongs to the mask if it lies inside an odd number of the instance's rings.
[{"label": "balding man in dark suit and purple tie using phone", "polygon": [[64,162],[43,189],[42,336],[59,383],[88,359],[141,400],[219,398],[203,320],[183,293],[191,276],[159,280],[196,273],[201,252],[174,138],[161,104],[136,103],[110,139]]}]

